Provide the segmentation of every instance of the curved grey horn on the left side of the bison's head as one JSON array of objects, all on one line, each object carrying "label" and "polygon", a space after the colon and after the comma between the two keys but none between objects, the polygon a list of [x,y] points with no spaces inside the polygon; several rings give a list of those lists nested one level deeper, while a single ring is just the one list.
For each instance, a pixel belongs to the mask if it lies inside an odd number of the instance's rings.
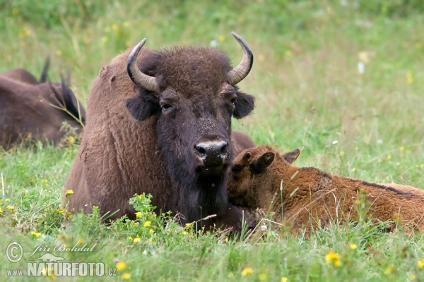
[{"label": "curved grey horn on the left side of the bison's head", "polygon": [[156,82],[156,78],[142,73],[137,66],[137,55],[139,55],[144,43],[146,43],[146,38],[141,40],[141,42],[131,51],[131,54],[129,54],[128,61],[126,61],[126,71],[136,85],[139,85],[148,91],[155,92],[158,90],[158,82]]}]

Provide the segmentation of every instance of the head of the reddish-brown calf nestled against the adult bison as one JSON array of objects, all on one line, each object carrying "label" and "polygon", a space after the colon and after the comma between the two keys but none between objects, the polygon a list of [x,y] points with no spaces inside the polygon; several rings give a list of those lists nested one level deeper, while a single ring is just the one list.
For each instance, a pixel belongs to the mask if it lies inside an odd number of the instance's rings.
[{"label": "head of the reddish-brown calf nestled against the adult bison", "polygon": [[245,149],[232,164],[228,200],[248,209],[269,207],[275,186],[281,181],[278,174],[293,164],[299,154],[299,149],[279,154],[268,145]]}]

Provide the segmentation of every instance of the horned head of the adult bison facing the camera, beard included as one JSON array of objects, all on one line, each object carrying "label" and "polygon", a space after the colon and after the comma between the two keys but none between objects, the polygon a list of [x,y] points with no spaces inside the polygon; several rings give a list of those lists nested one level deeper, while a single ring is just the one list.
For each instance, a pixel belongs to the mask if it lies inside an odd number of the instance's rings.
[{"label": "horned head of the adult bison facing the camera, beard included", "polygon": [[222,51],[205,47],[144,51],[136,60],[146,39],[127,63],[139,94],[127,99],[126,107],[138,121],[156,118],[160,155],[177,186],[179,206],[196,210],[184,214],[187,220],[220,212],[228,202],[231,117],[242,118],[254,108],[254,97],[235,86],[252,68],[252,51],[232,35],[244,51],[236,68]]}]

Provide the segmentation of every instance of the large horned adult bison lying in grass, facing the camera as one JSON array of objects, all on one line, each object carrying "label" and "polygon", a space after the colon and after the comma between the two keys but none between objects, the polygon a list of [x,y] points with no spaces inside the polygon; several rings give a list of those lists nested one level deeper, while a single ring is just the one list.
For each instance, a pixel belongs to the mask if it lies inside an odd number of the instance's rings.
[{"label": "large horned adult bison lying in grass, facing the camera", "polygon": [[151,51],[142,49],[146,39],[102,68],[66,180],[70,209],[90,212],[98,205],[103,214],[119,210],[112,218],[134,219],[128,200],[146,192],[158,209],[184,215],[183,223],[235,210],[225,209],[228,166],[233,147],[241,151],[252,140],[231,136],[231,118],[247,116],[254,97],[235,86],[252,68],[253,55],[232,35],[244,51],[236,68],[218,49]]}]

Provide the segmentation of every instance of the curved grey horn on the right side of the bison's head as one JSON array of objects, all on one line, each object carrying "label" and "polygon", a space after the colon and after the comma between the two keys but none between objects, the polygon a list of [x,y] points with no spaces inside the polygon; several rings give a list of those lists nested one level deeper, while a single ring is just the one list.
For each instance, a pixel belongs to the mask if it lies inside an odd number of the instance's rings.
[{"label": "curved grey horn on the right side of the bison's head", "polygon": [[253,65],[253,53],[250,49],[249,44],[245,42],[245,39],[242,39],[240,35],[237,35],[235,32],[231,32],[232,36],[239,42],[240,46],[243,49],[243,59],[238,66],[233,68],[227,73],[227,81],[230,85],[236,85],[238,82],[245,79],[249,74],[250,69]]}]

